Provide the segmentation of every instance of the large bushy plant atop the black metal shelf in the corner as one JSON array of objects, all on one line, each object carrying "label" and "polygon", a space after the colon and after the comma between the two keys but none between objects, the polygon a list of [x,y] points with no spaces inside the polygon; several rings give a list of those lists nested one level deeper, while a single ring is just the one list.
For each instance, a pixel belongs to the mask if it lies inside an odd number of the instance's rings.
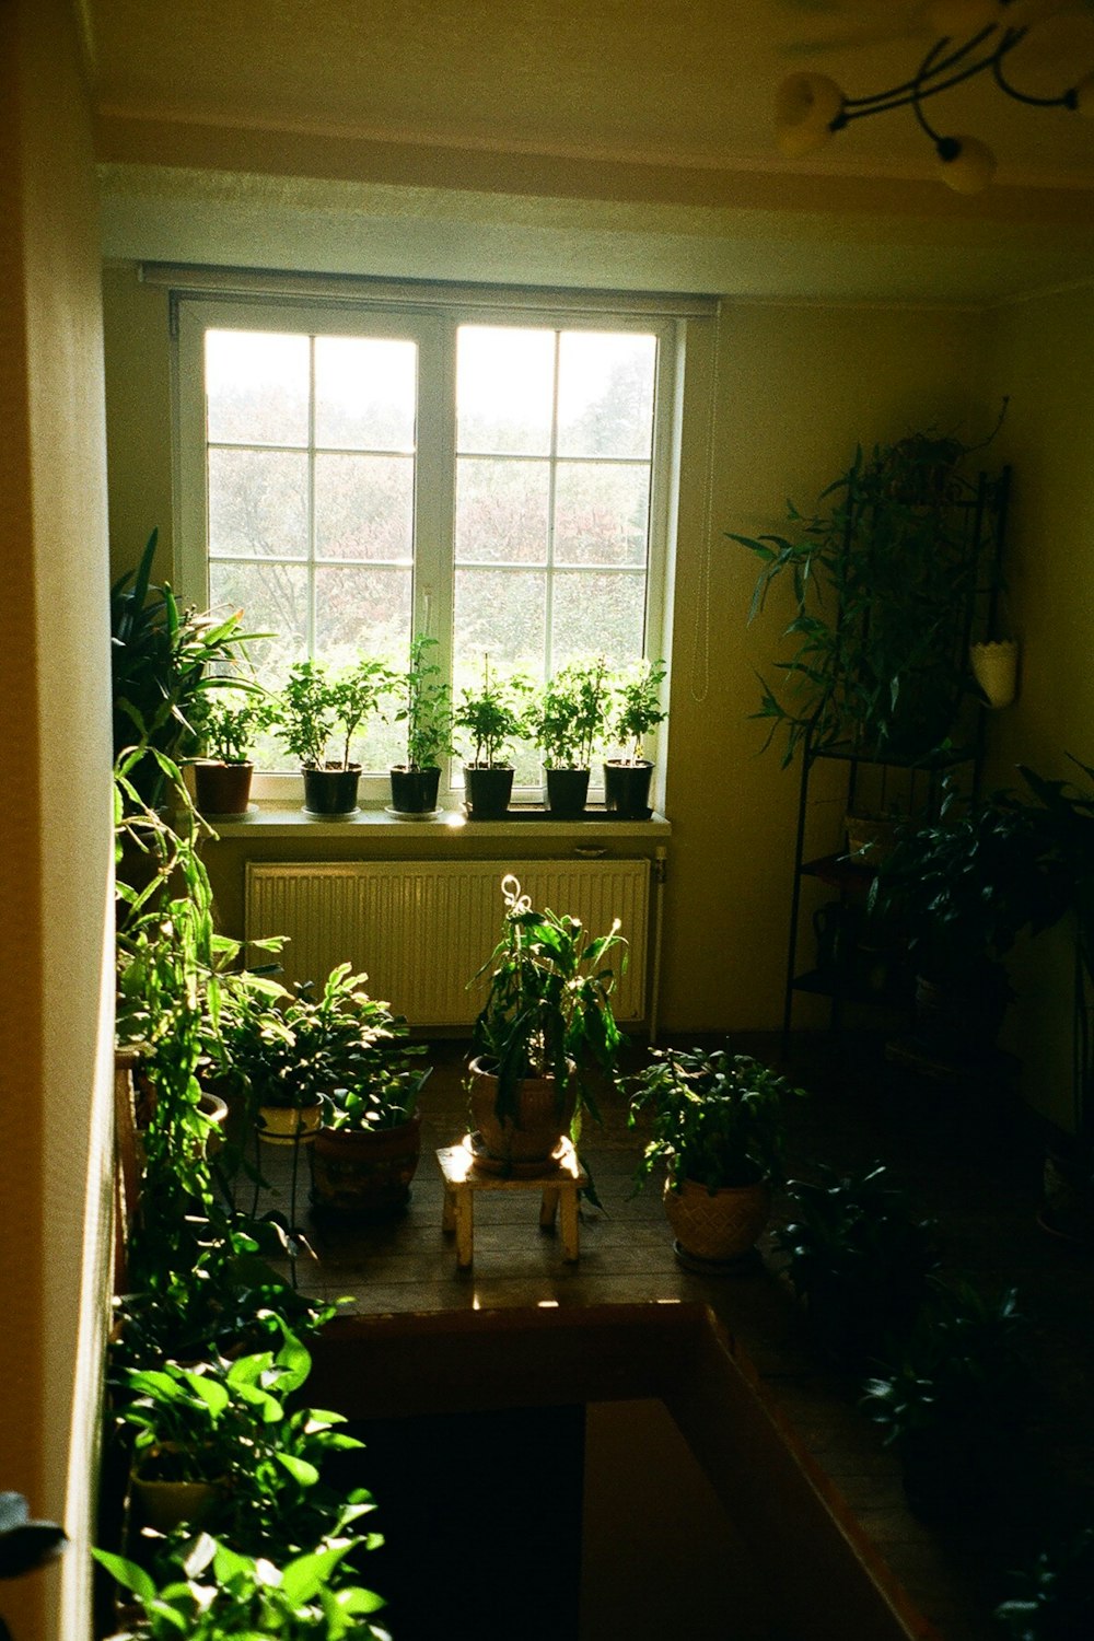
[{"label": "large bushy plant atop the black metal shelf in the corner", "polygon": [[764,745],[784,735],[784,763],[807,737],[812,750],[915,761],[951,734],[968,688],[964,612],[994,573],[978,486],[961,473],[973,448],[932,432],[859,448],[815,514],[787,504],[787,533],[727,532],[761,561],[750,620],[779,583],[791,594],[786,684],[761,679],[754,714]]}]

